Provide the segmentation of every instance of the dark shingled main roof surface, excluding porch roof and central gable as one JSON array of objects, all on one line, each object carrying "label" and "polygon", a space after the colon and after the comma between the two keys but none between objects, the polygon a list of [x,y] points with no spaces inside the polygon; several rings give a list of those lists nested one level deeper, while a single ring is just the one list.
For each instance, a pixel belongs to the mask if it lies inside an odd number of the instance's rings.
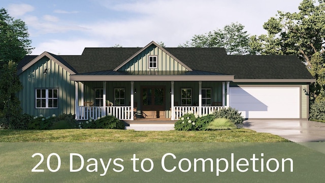
[{"label": "dark shingled main roof surface, excluding porch roof and central gable", "polygon": [[[111,71],[142,48],[85,48],[82,55],[53,55],[67,67],[82,73]],[[234,75],[235,79],[313,79],[294,55],[226,55],[224,48],[165,48],[196,71]],[[35,55],[27,55],[22,68]],[[104,72],[105,73],[105,72]]]}]

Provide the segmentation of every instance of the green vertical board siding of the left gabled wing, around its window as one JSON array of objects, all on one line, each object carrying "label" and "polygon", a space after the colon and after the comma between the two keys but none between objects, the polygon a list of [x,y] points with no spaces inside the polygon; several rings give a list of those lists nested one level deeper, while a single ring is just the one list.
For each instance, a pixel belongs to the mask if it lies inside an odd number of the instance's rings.
[{"label": "green vertical board siding of the left gabled wing, around its window", "polygon": [[[49,68],[47,74],[44,69]],[[53,60],[44,56],[34,65],[19,75],[23,89],[19,92],[19,99],[23,113],[38,116],[52,114],[75,114],[75,82],[70,81],[70,73],[60,67]],[[36,108],[36,89],[58,88],[58,108]]]}]

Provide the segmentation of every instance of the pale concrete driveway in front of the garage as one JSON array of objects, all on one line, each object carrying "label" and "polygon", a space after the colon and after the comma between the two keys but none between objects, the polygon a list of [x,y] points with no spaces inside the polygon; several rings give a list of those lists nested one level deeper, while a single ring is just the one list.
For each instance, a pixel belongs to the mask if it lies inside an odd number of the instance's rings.
[{"label": "pale concrete driveway in front of the garage", "polygon": [[248,119],[244,128],[271,133],[293,142],[324,142],[325,123],[294,119]]}]

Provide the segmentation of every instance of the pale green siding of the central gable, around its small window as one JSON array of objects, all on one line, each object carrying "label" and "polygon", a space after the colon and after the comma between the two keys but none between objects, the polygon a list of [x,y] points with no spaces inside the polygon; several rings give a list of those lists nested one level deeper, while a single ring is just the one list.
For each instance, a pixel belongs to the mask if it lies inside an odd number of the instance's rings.
[{"label": "pale green siding of the central gable, around its small window", "polygon": [[[149,55],[157,56],[157,69],[148,68]],[[169,54],[155,45],[151,45],[133,59],[129,60],[129,62],[122,66],[119,71],[187,71],[187,69]]]}]

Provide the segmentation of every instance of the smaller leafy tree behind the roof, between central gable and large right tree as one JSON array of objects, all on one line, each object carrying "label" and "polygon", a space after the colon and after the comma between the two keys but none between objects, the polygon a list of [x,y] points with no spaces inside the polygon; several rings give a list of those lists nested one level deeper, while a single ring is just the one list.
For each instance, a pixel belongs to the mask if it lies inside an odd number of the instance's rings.
[{"label": "smaller leafy tree behind the roof, between central gable and large right tree", "polygon": [[225,25],[223,29],[216,29],[202,35],[194,35],[190,41],[180,47],[223,47],[227,54],[250,54],[249,35],[244,30],[244,25],[236,22]]}]

